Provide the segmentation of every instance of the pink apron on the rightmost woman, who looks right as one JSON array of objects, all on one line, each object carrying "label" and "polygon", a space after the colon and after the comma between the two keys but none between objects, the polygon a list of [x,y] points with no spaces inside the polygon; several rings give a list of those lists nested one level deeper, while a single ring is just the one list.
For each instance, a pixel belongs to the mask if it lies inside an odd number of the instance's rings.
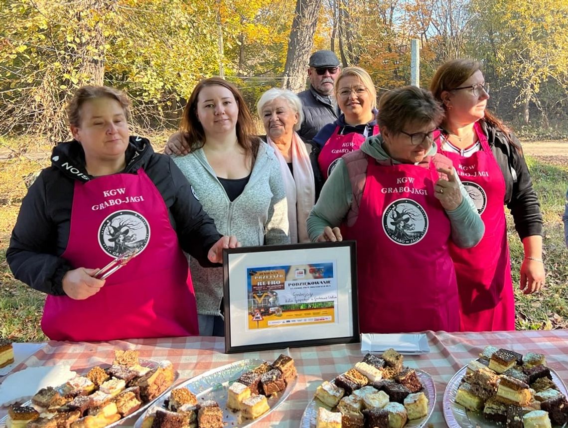
[{"label": "pink apron on the rightmost woman, who looks right", "polygon": [[515,330],[515,295],[503,208],[505,180],[478,122],[474,129],[482,149],[470,157],[441,150],[438,142],[438,151],[452,160],[485,224],[485,234],[475,247],[463,249],[450,244],[460,293],[461,330]]}]

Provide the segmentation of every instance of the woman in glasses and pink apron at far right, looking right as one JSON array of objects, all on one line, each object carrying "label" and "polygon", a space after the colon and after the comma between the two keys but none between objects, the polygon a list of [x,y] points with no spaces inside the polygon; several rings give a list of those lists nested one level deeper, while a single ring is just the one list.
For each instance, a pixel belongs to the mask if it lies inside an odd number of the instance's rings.
[{"label": "woman in glasses and pink apron at far right, looking right", "polygon": [[519,140],[487,110],[489,87],[478,62],[442,64],[430,89],[445,119],[436,137],[450,158],[485,224],[485,236],[470,249],[450,245],[460,292],[461,330],[515,329],[515,295],[503,204],[523,241],[520,289],[544,284],[542,215]]}]

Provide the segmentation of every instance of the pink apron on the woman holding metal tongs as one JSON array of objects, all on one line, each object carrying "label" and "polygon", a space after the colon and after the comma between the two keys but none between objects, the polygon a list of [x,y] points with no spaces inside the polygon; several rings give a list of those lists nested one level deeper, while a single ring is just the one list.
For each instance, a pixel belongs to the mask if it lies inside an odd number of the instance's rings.
[{"label": "pink apron on the woman holding metal tongs", "polygon": [[47,296],[41,328],[60,341],[197,335],[187,259],[164,199],[143,169],[75,182],[69,242],[73,268],[102,268],[130,248],[137,257],[85,300]]}]

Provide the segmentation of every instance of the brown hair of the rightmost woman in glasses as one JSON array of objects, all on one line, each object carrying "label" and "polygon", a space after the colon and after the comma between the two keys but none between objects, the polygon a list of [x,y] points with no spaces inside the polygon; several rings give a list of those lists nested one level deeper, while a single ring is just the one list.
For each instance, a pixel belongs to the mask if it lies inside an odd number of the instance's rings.
[{"label": "brown hair of the rightmost woman in glasses", "polygon": [[[436,97],[438,102],[442,104],[444,110],[446,110],[446,106],[442,100],[442,92],[451,91],[456,87],[460,87],[463,82],[469,79],[471,75],[477,71],[481,71],[481,64],[477,61],[464,58],[446,61],[438,67],[436,74],[434,74],[432,82],[430,83],[430,91]],[[503,131],[503,134],[507,138],[509,144],[519,149],[519,147],[511,139],[511,129],[509,129],[502,120],[487,110],[487,108],[485,109],[483,120],[500,131]]]}]

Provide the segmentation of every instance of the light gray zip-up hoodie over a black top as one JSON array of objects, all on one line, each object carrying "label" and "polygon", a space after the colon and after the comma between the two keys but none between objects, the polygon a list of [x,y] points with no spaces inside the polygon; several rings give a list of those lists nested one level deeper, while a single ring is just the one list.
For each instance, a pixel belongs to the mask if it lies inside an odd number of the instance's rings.
[{"label": "light gray zip-up hoodie over a black top", "polygon": [[[215,220],[219,233],[235,235],[243,246],[290,244],[284,183],[274,149],[268,144],[260,144],[247,186],[233,202],[203,149],[173,159],[190,182],[195,198]],[[197,312],[219,315],[223,268],[204,268],[194,258],[188,259]]]}]

